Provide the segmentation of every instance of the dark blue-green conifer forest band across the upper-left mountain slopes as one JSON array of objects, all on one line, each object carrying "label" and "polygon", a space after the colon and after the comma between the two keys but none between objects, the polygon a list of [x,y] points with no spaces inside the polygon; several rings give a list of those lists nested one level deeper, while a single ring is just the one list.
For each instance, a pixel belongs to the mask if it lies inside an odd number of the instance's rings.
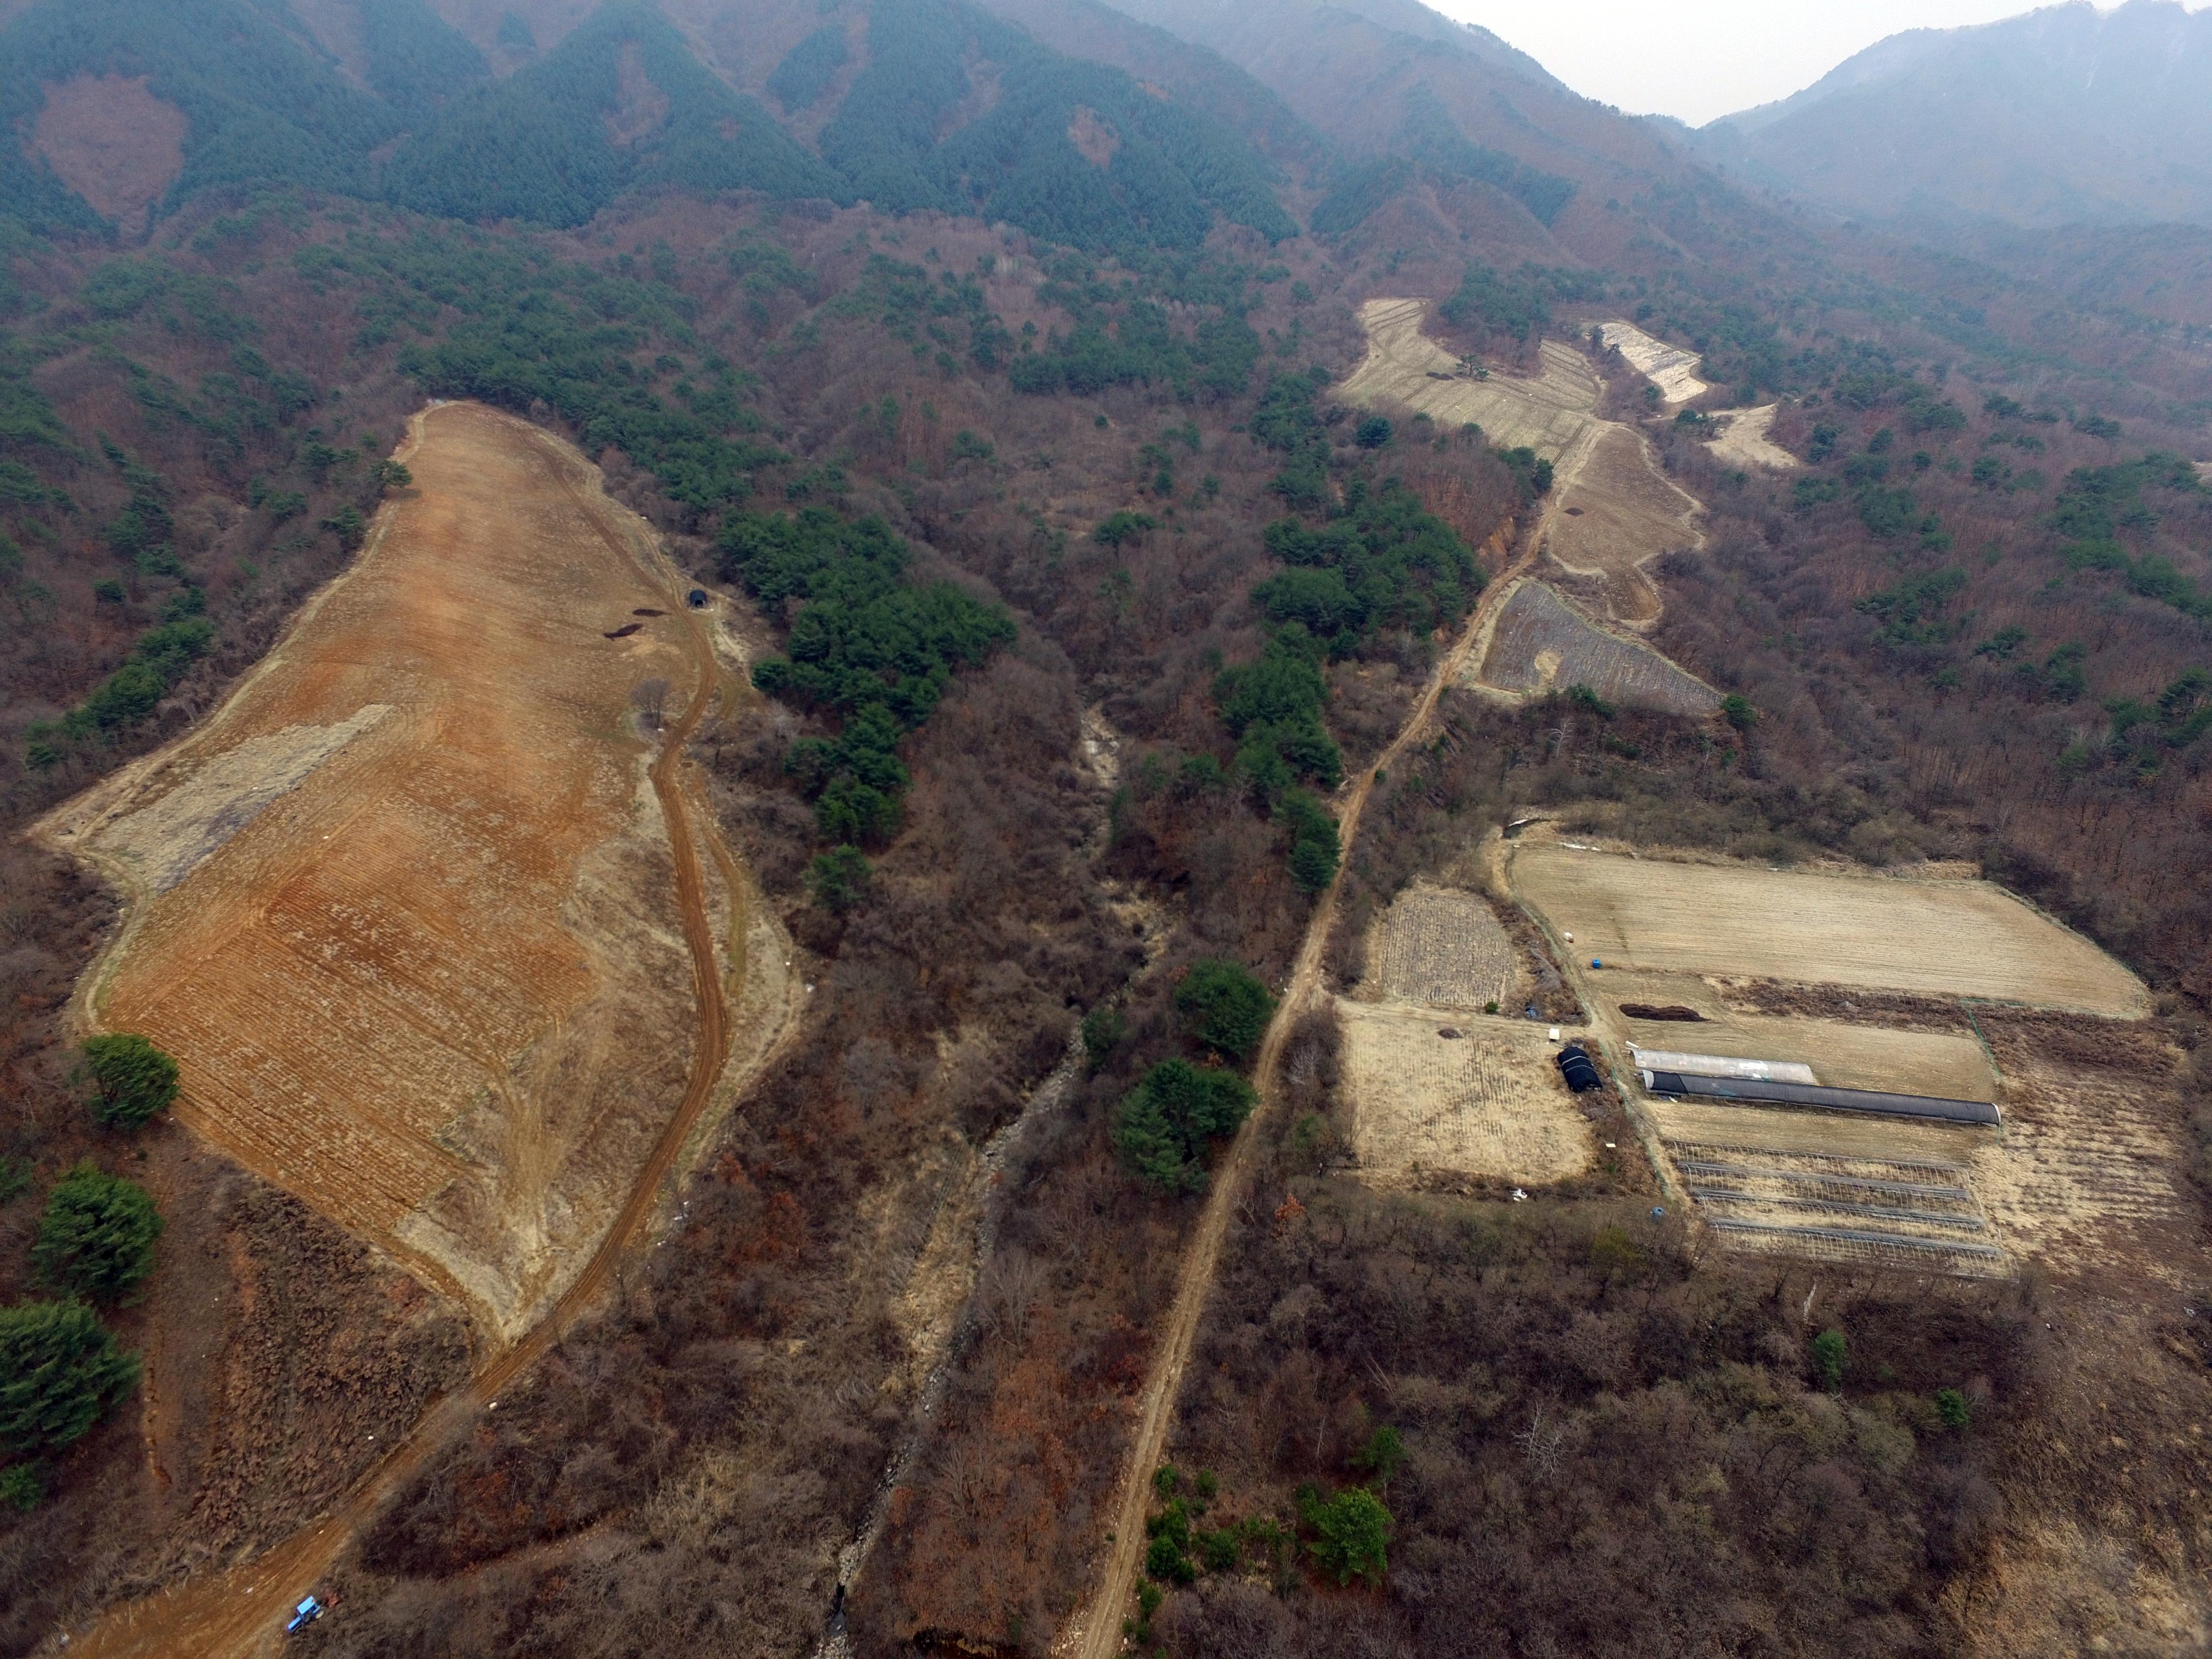
[{"label": "dark blue-green conifer forest band across the upper-left mountain slopes", "polygon": [[[608,0],[504,80],[427,0],[358,0],[358,24],[367,86],[252,0],[46,0],[0,29],[0,119],[27,131],[58,82],[146,75],[188,124],[166,206],[294,186],[577,226],[626,190],[684,188],[973,212],[1095,252],[1197,248],[1217,219],[1298,232],[1272,164],[1225,126],[964,0],[874,0],[867,64],[818,153],[708,71],[646,0]],[[849,51],[843,27],[818,29],[770,93],[814,108]],[[956,124],[978,71],[995,100]],[[1084,131],[1095,137],[1079,144]],[[0,217],[102,228],[22,146],[0,146]]]}]

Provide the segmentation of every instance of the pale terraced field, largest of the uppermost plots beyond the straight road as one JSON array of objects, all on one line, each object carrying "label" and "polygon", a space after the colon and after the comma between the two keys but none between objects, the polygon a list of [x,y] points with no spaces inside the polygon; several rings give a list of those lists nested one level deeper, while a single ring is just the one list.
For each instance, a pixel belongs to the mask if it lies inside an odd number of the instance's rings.
[{"label": "pale terraced field, largest of the uppermost plots beyond the straight road", "polygon": [[1582,352],[1544,341],[1542,378],[1475,380],[1422,334],[1427,314],[1422,299],[1371,299],[1360,307],[1367,358],[1343,385],[1347,403],[1427,414],[1447,431],[1473,420],[1493,445],[1526,445],[1553,462],[1590,431],[1599,383]]}]

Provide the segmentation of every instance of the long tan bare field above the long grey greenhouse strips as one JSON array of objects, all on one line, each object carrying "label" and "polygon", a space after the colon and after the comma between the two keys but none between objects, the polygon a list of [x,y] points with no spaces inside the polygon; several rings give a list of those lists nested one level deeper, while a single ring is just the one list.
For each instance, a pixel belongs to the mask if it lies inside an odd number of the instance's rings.
[{"label": "long tan bare field above the long grey greenhouse strips", "polygon": [[2115,1018],[2148,1011],[2141,980],[2095,945],[1973,880],[1818,876],[1750,865],[1522,845],[1513,883],[1575,936],[1590,989],[1624,969],[1863,984]]}]

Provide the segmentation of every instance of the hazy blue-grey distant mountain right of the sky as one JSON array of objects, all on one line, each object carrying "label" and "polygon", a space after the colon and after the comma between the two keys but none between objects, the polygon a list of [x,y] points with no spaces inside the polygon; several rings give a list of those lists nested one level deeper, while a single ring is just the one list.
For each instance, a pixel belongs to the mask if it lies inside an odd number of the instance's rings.
[{"label": "hazy blue-grey distant mountain right of the sky", "polygon": [[1851,215],[2212,223],[2212,11],[2070,0],[1913,29],[1697,144]]}]

